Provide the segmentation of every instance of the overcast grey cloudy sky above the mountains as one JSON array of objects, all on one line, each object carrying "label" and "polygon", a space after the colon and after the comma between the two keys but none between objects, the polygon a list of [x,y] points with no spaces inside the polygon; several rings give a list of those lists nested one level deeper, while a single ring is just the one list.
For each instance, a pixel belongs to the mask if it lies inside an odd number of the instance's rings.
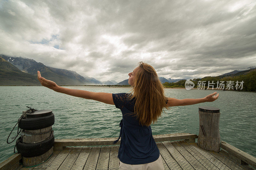
[{"label": "overcast grey cloudy sky above the mountains", "polygon": [[0,38],[0,54],[100,81],[140,61],[164,78],[218,76],[256,65],[256,2],[2,0]]}]

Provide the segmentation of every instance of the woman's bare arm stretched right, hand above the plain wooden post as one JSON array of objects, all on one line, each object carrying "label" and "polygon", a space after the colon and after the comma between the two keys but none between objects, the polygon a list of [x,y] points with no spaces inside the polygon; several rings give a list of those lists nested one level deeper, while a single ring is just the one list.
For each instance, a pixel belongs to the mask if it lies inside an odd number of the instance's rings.
[{"label": "woman's bare arm stretched right, hand above the plain wooden post", "polygon": [[181,99],[180,100],[180,99],[175,99],[175,98],[168,98],[167,105],[169,107],[172,107],[172,106],[194,105],[194,104],[203,103],[203,102],[211,102],[211,101],[218,99],[219,93],[216,96],[214,96],[215,94],[217,94],[217,92],[209,94],[201,99]]}]

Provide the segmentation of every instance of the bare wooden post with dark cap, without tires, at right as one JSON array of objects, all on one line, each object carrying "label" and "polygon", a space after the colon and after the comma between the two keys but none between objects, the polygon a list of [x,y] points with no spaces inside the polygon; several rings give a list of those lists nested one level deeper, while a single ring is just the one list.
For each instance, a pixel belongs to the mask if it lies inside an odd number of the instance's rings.
[{"label": "bare wooden post with dark cap, without tires, at right", "polygon": [[220,109],[203,106],[199,108],[199,135],[197,145],[211,152],[220,152]]}]

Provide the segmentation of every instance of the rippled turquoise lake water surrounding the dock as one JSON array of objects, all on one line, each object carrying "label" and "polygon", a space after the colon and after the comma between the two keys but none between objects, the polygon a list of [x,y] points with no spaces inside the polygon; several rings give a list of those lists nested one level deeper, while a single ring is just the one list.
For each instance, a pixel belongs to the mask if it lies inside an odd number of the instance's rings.
[{"label": "rippled turquoise lake water surrounding the dock", "polygon": [[[131,88],[78,87],[66,88],[92,92],[120,93]],[[213,90],[165,89],[166,97],[177,99],[203,98]],[[214,102],[189,106],[169,107],[155,124],[152,134],[199,132],[199,106],[220,108],[220,138],[256,157],[256,93],[217,90],[220,96]],[[114,105],[54,92],[43,86],[0,86],[0,162],[13,154],[15,141],[6,139],[17,123],[22,111],[28,107],[51,109],[55,115],[52,126],[56,139],[118,137],[122,113]],[[17,127],[11,137],[17,135]],[[11,138],[9,141],[12,141]],[[197,141],[196,141],[197,142]],[[16,150],[17,152],[17,150]]]}]

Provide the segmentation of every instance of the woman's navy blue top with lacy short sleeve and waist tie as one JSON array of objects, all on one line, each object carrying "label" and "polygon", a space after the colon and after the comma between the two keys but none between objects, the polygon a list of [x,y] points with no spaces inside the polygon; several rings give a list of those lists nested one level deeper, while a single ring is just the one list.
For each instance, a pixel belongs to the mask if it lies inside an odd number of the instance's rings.
[{"label": "woman's navy blue top with lacy short sleeve and waist tie", "polygon": [[[130,165],[146,164],[156,161],[160,152],[152,136],[151,126],[141,126],[134,113],[135,99],[128,100],[127,93],[113,93],[113,101],[116,108],[122,112],[122,120],[119,124],[120,135],[114,144],[120,139],[118,158],[121,162]],[[127,114],[128,113],[128,114]]]}]

